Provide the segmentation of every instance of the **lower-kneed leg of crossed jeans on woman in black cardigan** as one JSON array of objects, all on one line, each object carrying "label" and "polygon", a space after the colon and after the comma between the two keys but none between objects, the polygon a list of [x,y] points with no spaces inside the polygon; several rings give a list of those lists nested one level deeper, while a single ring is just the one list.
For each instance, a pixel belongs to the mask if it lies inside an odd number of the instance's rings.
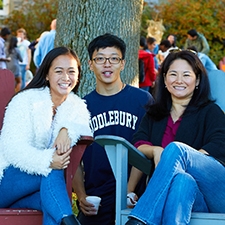
[{"label": "lower-kneed leg of crossed jeans on woman in black cardigan", "polygon": [[[179,207],[176,209],[174,206]],[[192,207],[198,212],[208,212],[204,197],[195,179],[188,173],[178,173],[171,183],[161,216],[161,224],[188,224],[193,211]],[[189,213],[183,214],[182,211]]]}]

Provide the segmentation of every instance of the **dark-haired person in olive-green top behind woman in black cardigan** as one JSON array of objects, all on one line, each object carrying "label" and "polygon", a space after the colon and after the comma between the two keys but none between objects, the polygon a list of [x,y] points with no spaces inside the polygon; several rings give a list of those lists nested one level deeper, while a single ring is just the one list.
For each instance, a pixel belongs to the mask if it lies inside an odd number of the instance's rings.
[{"label": "dark-haired person in olive-green top behind woman in black cardigan", "polygon": [[195,46],[198,52],[204,54],[209,53],[209,44],[203,34],[200,34],[195,29],[191,29],[187,32],[187,39],[183,49],[187,49],[190,46]]}]

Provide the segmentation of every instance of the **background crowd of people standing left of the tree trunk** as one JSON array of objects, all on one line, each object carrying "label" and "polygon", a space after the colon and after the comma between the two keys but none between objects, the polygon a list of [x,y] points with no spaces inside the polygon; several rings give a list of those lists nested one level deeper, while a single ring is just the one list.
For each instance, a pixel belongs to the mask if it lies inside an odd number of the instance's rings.
[{"label": "background crowd of people standing left of the tree trunk", "polygon": [[[34,41],[28,40],[27,31],[18,28],[12,31],[4,27],[0,31],[0,69],[9,69],[15,76],[15,92],[24,89],[40,67],[45,55],[54,48],[56,19],[50,31],[44,31]],[[40,42],[40,43],[39,43]],[[31,70],[34,64],[35,71]]]}]

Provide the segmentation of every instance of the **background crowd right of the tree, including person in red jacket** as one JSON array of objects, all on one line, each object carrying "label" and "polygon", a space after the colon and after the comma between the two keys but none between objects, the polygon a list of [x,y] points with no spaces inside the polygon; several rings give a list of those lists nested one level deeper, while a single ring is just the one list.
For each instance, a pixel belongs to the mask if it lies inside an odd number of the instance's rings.
[{"label": "background crowd right of the tree, including person in red jacket", "polygon": [[[169,34],[165,39],[162,39],[160,43],[156,43],[154,37],[140,37],[140,48],[139,48],[139,87],[154,94],[154,86],[157,79],[157,74],[161,68],[161,65],[169,53],[173,51],[180,51],[181,49],[188,49],[197,54],[207,72],[212,70],[218,70],[215,63],[208,56],[210,47],[203,34],[197,32],[195,29],[187,31],[187,39],[185,44],[180,48],[177,46],[177,37],[174,34]],[[140,54],[141,52],[141,54]],[[145,52],[145,53],[144,53]],[[147,57],[146,52],[149,53]],[[145,67],[140,64],[140,57],[145,55]],[[151,55],[151,56],[150,56]],[[147,58],[153,57],[152,60],[146,60]],[[149,65],[149,62],[151,61]],[[155,68],[155,71],[150,71],[150,68]],[[143,71],[145,76],[142,75]],[[156,76],[154,76],[154,73]],[[144,78],[143,78],[144,77]]]}]

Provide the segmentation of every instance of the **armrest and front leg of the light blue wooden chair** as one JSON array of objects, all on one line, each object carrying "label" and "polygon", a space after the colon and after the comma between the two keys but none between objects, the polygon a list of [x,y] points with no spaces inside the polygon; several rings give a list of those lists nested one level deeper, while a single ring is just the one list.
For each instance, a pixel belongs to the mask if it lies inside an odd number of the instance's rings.
[{"label": "armrest and front leg of the light blue wooden chair", "polygon": [[127,209],[128,161],[147,175],[153,172],[153,163],[122,137],[99,135],[95,137],[95,142],[105,148],[116,178],[116,225],[123,225],[130,212]]}]

